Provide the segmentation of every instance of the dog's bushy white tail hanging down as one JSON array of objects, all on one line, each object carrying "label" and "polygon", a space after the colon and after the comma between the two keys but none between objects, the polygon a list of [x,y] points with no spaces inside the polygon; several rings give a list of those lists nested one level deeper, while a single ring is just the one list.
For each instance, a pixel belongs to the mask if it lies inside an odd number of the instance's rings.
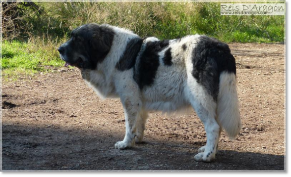
[{"label": "dog's bushy white tail hanging down", "polygon": [[220,74],[217,122],[230,138],[235,138],[241,129],[236,77],[233,72],[224,71]]}]

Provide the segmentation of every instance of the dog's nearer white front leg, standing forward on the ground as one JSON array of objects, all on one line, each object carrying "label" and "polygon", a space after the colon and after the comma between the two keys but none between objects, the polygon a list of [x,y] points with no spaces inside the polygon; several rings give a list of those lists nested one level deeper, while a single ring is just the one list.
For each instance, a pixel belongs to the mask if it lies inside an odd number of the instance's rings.
[{"label": "dog's nearer white front leg, standing forward on the ground", "polygon": [[141,110],[141,102],[138,97],[121,98],[121,102],[124,108],[126,133],[122,141],[116,142],[116,149],[126,149],[134,146],[136,136],[135,123]]}]

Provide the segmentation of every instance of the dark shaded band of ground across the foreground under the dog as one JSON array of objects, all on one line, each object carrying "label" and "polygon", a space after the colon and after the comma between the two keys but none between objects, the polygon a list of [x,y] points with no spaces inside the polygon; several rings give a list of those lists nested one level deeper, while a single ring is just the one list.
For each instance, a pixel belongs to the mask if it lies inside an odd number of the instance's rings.
[{"label": "dark shaded band of ground across the foreground under the dog", "polygon": [[194,144],[146,137],[114,149],[123,133],[60,127],[2,126],[2,170],[285,170],[283,155],[219,149],[211,163],[195,162]]}]

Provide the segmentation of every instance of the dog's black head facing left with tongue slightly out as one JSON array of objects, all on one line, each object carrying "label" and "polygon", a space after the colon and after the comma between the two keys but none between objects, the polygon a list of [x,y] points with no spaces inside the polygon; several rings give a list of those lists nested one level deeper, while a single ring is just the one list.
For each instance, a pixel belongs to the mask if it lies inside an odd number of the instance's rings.
[{"label": "dog's black head facing left with tongue slightly out", "polygon": [[106,25],[89,23],[71,32],[70,39],[58,47],[65,66],[96,69],[111,49],[114,31]]}]

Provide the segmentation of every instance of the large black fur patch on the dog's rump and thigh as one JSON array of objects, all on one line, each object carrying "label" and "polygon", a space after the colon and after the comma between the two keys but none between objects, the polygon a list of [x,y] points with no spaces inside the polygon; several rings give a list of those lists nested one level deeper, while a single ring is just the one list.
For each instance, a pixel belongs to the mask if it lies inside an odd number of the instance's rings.
[{"label": "large black fur patch on the dog's rump and thigh", "polygon": [[193,49],[192,75],[217,101],[221,72],[236,74],[235,58],[228,44],[214,38],[201,36]]}]

